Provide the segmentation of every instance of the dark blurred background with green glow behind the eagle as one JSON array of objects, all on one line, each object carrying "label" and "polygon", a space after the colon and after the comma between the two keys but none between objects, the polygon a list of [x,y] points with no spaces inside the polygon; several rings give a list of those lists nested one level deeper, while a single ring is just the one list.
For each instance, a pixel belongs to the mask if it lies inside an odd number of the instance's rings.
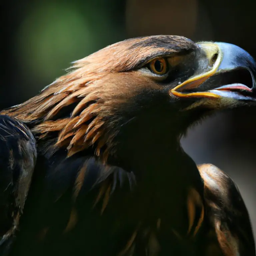
[{"label": "dark blurred background with green glow behind the eagle", "polygon": [[[183,35],[236,44],[256,58],[252,0],[1,1],[0,109],[34,96],[70,62],[130,37]],[[213,163],[238,184],[256,236],[256,113],[225,111],[182,139],[196,163]]]}]

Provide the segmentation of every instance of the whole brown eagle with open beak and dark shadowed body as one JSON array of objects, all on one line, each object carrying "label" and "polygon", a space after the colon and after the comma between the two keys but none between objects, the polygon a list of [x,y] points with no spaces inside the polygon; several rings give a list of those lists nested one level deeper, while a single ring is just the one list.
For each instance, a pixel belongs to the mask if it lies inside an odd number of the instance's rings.
[{"label": "whole brown eagle with open beak and dark shadowed body", "polygon": [[0,255],[255,256],[236,184],[180,145],[255,77],[236,45],[139,37],[1,111]]}]

